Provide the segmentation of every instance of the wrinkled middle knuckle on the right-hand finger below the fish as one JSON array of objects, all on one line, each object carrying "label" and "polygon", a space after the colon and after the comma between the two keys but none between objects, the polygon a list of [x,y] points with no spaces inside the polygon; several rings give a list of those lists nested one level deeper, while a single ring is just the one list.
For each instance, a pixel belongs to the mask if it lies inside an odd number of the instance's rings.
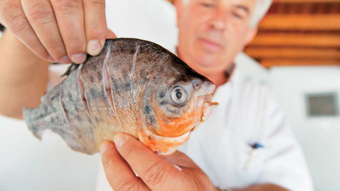
[{"label": "wrinkled middle knuckle on the right-hand finger below the fish", "polygon": [[146,182],[152,186],[161,186],[167,178],[167,169],[164,163],[158,161],[144,175]]}]

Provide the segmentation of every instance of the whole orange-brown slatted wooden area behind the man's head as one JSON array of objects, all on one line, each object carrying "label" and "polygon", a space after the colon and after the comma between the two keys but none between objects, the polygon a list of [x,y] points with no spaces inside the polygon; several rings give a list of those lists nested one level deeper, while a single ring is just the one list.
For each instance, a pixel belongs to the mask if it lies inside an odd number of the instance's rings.
[{"label": "whole orange-brown slatted wooden area behind the man's head", "polygon": [[274,2],[245,53],[267,68],[340,66],[340,0]]}]

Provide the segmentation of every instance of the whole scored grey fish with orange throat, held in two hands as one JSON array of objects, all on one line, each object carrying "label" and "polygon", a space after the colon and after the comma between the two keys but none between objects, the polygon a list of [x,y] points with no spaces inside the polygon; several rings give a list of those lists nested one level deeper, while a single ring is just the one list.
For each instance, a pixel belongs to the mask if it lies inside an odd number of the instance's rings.
[{"label": "whole scored grey fish with orange throat, held in two hands", "polygon": [[145,40],[108,39],[99,55],[72,64],[65,75],[23,116],[39,139],[49,128],[87,154],[119,132],[158,155],[172,154],[218,106],[210,80]]}]

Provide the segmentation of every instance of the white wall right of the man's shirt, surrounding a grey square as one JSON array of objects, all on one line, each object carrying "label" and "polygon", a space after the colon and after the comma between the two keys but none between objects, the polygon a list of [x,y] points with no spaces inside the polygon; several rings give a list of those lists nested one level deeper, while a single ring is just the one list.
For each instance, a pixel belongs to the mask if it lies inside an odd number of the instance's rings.
[{"label": "white wall right of the man's shirt, surrounding a grey square", "polygon": [[340,117],[307,117],[305,93],[338,92],[340,67],[273,67],[271,86],[302,144],[316,191],[340,190]]}]

